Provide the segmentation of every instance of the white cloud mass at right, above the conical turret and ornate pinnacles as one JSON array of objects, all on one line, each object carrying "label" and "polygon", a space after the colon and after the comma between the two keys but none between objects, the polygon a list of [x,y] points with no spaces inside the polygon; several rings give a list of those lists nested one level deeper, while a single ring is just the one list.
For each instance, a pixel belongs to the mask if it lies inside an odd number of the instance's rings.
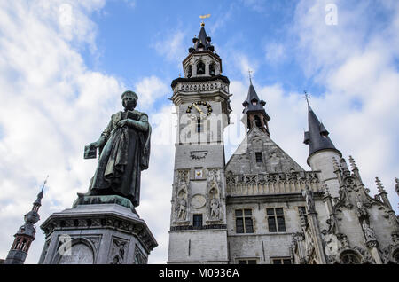
[{"label": "white cloud mass at right, above the conical turret and ornate pinnacles", "polygon": [[306,74],[316,75],[326,88],[325,93],[314,93],[323,96],[312,98],[311,103],[328,122],[334,144],[344,155],[355,157],[366,186],[376,193],[374,177],[380,176],[393,200],[399,169],[399,73],[395,67],[399,45],[397,36],[387,35],[399,33],[399,3],[383,2],[389,16],[376,24],[371,2],[349,6],[334,1],[339,21],[337,26],[328,26],[325,4],[330,2],[301,1],[293,22],[299,37],[298,60]]}]

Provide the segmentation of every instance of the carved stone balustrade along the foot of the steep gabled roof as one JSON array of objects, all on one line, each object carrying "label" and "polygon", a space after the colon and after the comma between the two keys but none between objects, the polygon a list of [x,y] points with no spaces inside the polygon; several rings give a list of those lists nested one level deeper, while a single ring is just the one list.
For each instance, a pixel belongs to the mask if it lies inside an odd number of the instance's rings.
[{"label": "carved stone balustrade along the foot of the steep gabled roof", "polygon": [[309,186],[313,192],[322,191],[317,171],[226,176],[228,196],[297,193]]}]

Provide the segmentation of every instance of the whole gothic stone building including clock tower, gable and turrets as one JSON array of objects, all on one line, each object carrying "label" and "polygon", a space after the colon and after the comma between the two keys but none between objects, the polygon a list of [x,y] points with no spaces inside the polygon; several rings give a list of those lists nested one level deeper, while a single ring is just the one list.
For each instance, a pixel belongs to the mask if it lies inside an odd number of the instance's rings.
[{"label": "whole gothic stone building including clock tower, gable and turrets", "polygon": [[171,85],[178,130],[168,263],[398,263],[399,223],[387,192],[377,178],[379,194],[370,196],[309,103],[310,170],[270,138],[252,82],[242,104],[246,137],[225,160],[230,81],[201,26],[184,77]]}]

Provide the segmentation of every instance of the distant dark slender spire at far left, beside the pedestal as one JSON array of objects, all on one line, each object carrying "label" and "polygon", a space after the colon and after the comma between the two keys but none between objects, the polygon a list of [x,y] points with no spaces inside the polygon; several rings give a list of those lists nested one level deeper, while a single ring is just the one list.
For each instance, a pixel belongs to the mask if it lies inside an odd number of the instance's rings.
[{"label": "distant dark slender spire at far left, beside the pedestal", "polygon": [[25,262],[30,244],[35,240],[35,223],[40,220],[38,212],[39,208],[42,206],[43,189],[46,182],[47,180],[44,181],[42,191],[37,194],[37,199],[33,203],[32,210],[24,217],[25,224],[23,224],[14,235],[14,242],[12,243],[12,247],[4,264],[23,264]]}]

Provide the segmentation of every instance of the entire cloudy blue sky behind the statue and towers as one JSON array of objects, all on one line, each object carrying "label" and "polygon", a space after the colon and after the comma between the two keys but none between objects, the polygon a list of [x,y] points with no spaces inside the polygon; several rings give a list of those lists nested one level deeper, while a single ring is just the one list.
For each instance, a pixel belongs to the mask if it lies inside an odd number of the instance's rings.
[{"label": "entire cloudy blue sky behind the statue and towers", "polygon": [[[309,169],[307,90],[334,145],[355,158],[372,196],[379,176],[398,213],[397,0],[0,0],[0,258],[49,175],[27,256],[38,262],[39,225],[88,190],[97,161],[83,160],[84,145],[121,110],[121,93],[135,90],[153,126],[137,212],[159,243],[150,263],[167,261],[176,131],[170,82],[183,74],[199,16],[208,13],[207,33],[231,80],[231,129],[241,127],[251,69],[272,139]],[[231,136],[227,157],[241,141]]]}]

